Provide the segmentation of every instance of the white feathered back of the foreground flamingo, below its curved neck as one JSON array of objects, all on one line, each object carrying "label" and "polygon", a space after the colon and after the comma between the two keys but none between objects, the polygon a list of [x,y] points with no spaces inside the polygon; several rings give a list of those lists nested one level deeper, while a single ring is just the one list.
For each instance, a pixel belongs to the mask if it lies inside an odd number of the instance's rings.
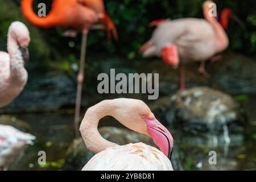
[{"label": "white feathered back of the foreground flamingo, below its curved neck", "polygon": [[144,143],[110,147],[96,154],[82,171],[173,171],[170,160]]}]

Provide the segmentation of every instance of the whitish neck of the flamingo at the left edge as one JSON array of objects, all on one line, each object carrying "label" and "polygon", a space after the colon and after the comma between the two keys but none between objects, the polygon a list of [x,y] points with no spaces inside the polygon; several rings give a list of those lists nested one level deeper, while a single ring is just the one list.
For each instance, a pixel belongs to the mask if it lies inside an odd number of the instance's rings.
[{"label": "whitish neck of the flamingo at the left edge", "polygon": [[14,38],[13,30],[10,29],[7,38],[7,50],[10,56],[10,79],[16,84],[27,81],[27,71],[24,68],[24,61],[19,46]]}]

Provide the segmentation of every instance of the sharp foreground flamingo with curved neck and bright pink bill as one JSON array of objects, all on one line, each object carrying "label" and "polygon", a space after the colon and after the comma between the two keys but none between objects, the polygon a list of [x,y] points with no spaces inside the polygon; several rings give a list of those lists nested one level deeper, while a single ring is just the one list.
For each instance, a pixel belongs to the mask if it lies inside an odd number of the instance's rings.
[{"label": "sharp foreground flamingo with curved neck and bright pink bill", "polygon": [[[98,122],[110,115],[122,125],[152,137],[160,151],[144,143],[118,144],[98,133]],[[82,120],[80,132],[86,147],[96,154],[82,170],[173,170],[171,159],[174,140],[170,132],[140,100],[118,98],[90,107]]]}]

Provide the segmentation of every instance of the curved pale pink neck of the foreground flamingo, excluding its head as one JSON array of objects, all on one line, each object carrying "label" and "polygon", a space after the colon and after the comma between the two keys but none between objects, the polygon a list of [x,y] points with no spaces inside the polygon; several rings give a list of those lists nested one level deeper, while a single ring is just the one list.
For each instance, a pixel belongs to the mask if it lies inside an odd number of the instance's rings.
[{"label": "curved pale pink neck of the foreground flamingo, excluding its head", "polygon": [[85,113],[80,126],[80,132],[86,147],[94,154],[104,151],[106,148],[117,146],[117,144],[101,137],[98,132],[98,122],[105,116],[113,115],[114,108],[112,101],[105,100],[90,107]]}]

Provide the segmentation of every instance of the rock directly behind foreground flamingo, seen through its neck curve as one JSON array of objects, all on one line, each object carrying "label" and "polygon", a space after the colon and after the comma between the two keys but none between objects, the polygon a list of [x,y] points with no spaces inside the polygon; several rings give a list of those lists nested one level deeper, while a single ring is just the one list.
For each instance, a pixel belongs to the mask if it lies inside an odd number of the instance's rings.
[{"label": "rock directly behind foreground flamingo, seen through its neck curve", "polygon": [[[117,128],[117,127],[101,127],[99,129],[100,134],[110,142],[117,143],[119,145],[125,145],[128,143],[143,142],[150,146],[155,146],[150,137],[146,135],[138,134],[135,131]],[[67,151],[67,158],[63,166],[64,170],[81,170],[82,167],[93,157],[92,152],[89,152],[85,147],[82,138],[73,140],[73,143]],[[182,169],[179,162],[177,147],[172,154],[172,166],[175,169]]]}]

